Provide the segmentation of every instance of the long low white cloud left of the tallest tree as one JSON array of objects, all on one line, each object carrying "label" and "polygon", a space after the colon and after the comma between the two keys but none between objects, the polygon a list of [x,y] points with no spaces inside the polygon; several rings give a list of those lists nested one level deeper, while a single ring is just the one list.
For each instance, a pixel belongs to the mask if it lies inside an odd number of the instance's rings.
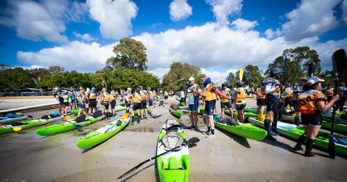
[{"label": "long low white cloud left of the tallest tree", "polygon": [[109,44],[102,47],[93,42],[85,44],[84,42],[70,42],[62,47],[53,47],[42,49],[37,52],[17,52],[17,59],[23,63],[46,67],[46,65],[58,65],[65,70],[78,70],[78,72],[96,72],[105,67],[105,62],[111,56],[116,45]]}]

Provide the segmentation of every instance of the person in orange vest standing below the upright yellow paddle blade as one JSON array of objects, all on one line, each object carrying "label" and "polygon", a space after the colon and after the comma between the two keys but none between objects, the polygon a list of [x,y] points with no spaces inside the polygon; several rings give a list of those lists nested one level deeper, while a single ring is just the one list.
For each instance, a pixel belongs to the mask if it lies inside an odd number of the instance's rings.
[{"label": "person in orange vest standing below the upright yellow paddle blade", "polygon": [[239,115],[239,122],[244,123],[244,108],[246,107],[246,93],[242,88],[242,83],[236,83],[236,91],[234,94],[234,101],[236,104],[237,115]]}]

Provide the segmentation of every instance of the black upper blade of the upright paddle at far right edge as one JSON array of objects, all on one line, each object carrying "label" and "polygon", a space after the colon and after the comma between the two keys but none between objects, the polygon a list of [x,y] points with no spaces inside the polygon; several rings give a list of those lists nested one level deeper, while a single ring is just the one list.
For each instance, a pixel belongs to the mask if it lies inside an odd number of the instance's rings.
[{"label": "black upper blade of the upright paddle at far right edge", "polygon": [[346,51],[339,49],[332,54],[332,74],[335,79],[340,78],[346,67]]}]

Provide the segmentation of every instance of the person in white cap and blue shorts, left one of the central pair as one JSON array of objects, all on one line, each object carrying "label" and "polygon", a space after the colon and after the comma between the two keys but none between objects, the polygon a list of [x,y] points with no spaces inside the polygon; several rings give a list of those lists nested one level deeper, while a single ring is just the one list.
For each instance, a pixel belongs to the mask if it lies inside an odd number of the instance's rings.
[{"label": "person in white cap and blue shorts, left one of the central pair", "polygon": [[198,129],[198,101],[201,97],[201,86],[195,84],[195,78],[190,77],[188,79],[188,89],[187,89],[187,97],[189,101],[188,106],[188,116],[190,122],[192,122],[192,126],[188,129],[194,131]]}]

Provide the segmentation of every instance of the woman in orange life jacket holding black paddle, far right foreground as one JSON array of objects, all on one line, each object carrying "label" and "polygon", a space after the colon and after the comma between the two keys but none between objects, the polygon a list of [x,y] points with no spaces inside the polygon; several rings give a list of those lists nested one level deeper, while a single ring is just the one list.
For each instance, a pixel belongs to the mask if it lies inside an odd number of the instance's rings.
[{"label": "woman in orange life jacket holding black paddle, far right foreground", "polygon": [[298,138],[298,142],[294,147],[294,151],[301,150],[301,145],[305,144],[305,157],[313,157],[311,152],[316,135],[321,129],[322,115],[325,110],[329,110],[335,101],[339,99],[339,95],[332,96],[331,100],[327,103],[328,98],[320,92],[318,89],[321,87],[321,82],[324,81],[321,78],[312,76],[307,79],[307,85],[303,86],[304,92],[298,96],[298,107],[301,112],[301,121],[303,122],[303,128],[305,133]]}]

